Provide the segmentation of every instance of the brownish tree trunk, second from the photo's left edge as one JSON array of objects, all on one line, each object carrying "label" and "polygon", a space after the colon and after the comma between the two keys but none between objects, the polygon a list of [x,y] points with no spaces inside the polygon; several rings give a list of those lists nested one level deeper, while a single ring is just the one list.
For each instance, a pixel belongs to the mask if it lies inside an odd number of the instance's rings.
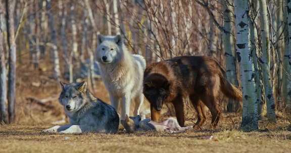
[{"label": "brownish tree trunk, second from the photo's left edge", "polygon": [[8,71],[8,118],[9,123],[15,120],[15,84],[16,84],[16,43],[14,31],[14,8],[16,1],[6,0],[6,27],[7,42],[9,47],[9,71]]}]

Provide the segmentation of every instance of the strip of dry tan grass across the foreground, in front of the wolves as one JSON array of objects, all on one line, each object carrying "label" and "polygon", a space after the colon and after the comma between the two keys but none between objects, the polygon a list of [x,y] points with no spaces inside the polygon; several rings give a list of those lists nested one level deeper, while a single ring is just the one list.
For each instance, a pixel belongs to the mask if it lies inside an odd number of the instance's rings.
[{"label": "strip of dry tan grass across the foreground, in front of the wolves", "polygon": [[[237,130],[179,134],[41,134],[49,126],[10,125],[0,129],[0,152],[289,152],[291,132]],[[210,136],[213,136],[210,139]]]}]

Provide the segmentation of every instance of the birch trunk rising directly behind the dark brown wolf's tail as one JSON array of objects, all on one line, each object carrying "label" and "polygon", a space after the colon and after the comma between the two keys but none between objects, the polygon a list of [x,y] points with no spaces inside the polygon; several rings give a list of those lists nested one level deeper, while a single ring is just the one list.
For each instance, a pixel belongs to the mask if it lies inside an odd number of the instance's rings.
[{"label": "birch trunk rising directly behind the dark brown wolf's tail", "polygon": [[[224,56],[226,60],[226,77],[227,80],[238,86],[238,80],[236,75],[236,62],[235,62],[235,46],[234,46],[234,16],[233,16],[233,1],[223,1],[223,16],[224,16],[224,29],[229,33],[223,32],[223,45],[224,45]],[[239,102],[229,100],[227,105],[228,112],[236,112],[239,108]]]}]

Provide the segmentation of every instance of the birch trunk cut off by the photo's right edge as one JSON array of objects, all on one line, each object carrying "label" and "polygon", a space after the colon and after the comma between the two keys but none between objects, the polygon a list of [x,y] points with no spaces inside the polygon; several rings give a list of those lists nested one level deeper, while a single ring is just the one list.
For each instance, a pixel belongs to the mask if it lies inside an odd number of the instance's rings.
[{"label": "birch trunk cut off by the photo's right edge", "polygon": [[291,121],[291,1],[287,1],[288,49],[283,54],[283,100],[286,104],[287,119]]}]

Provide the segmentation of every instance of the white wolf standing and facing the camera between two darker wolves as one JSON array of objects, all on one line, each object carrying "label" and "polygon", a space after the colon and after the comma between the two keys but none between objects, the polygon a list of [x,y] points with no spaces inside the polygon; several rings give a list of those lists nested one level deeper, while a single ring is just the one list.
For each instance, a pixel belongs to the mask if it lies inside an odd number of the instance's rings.
[{"label": "white wolf standing and facing the camera between two darker wolves", "polygon": [[98,42],[95,59],[100,64],[101,77],[109,91],[112,106],[118,110],[121,103],[121,119],[124,120],[126,115],[129,116],[133,100],[133,114],[139,115],[143,103],[142,81],[146,60],[141,55],[130,54],[120,35],[99,35]]}]

